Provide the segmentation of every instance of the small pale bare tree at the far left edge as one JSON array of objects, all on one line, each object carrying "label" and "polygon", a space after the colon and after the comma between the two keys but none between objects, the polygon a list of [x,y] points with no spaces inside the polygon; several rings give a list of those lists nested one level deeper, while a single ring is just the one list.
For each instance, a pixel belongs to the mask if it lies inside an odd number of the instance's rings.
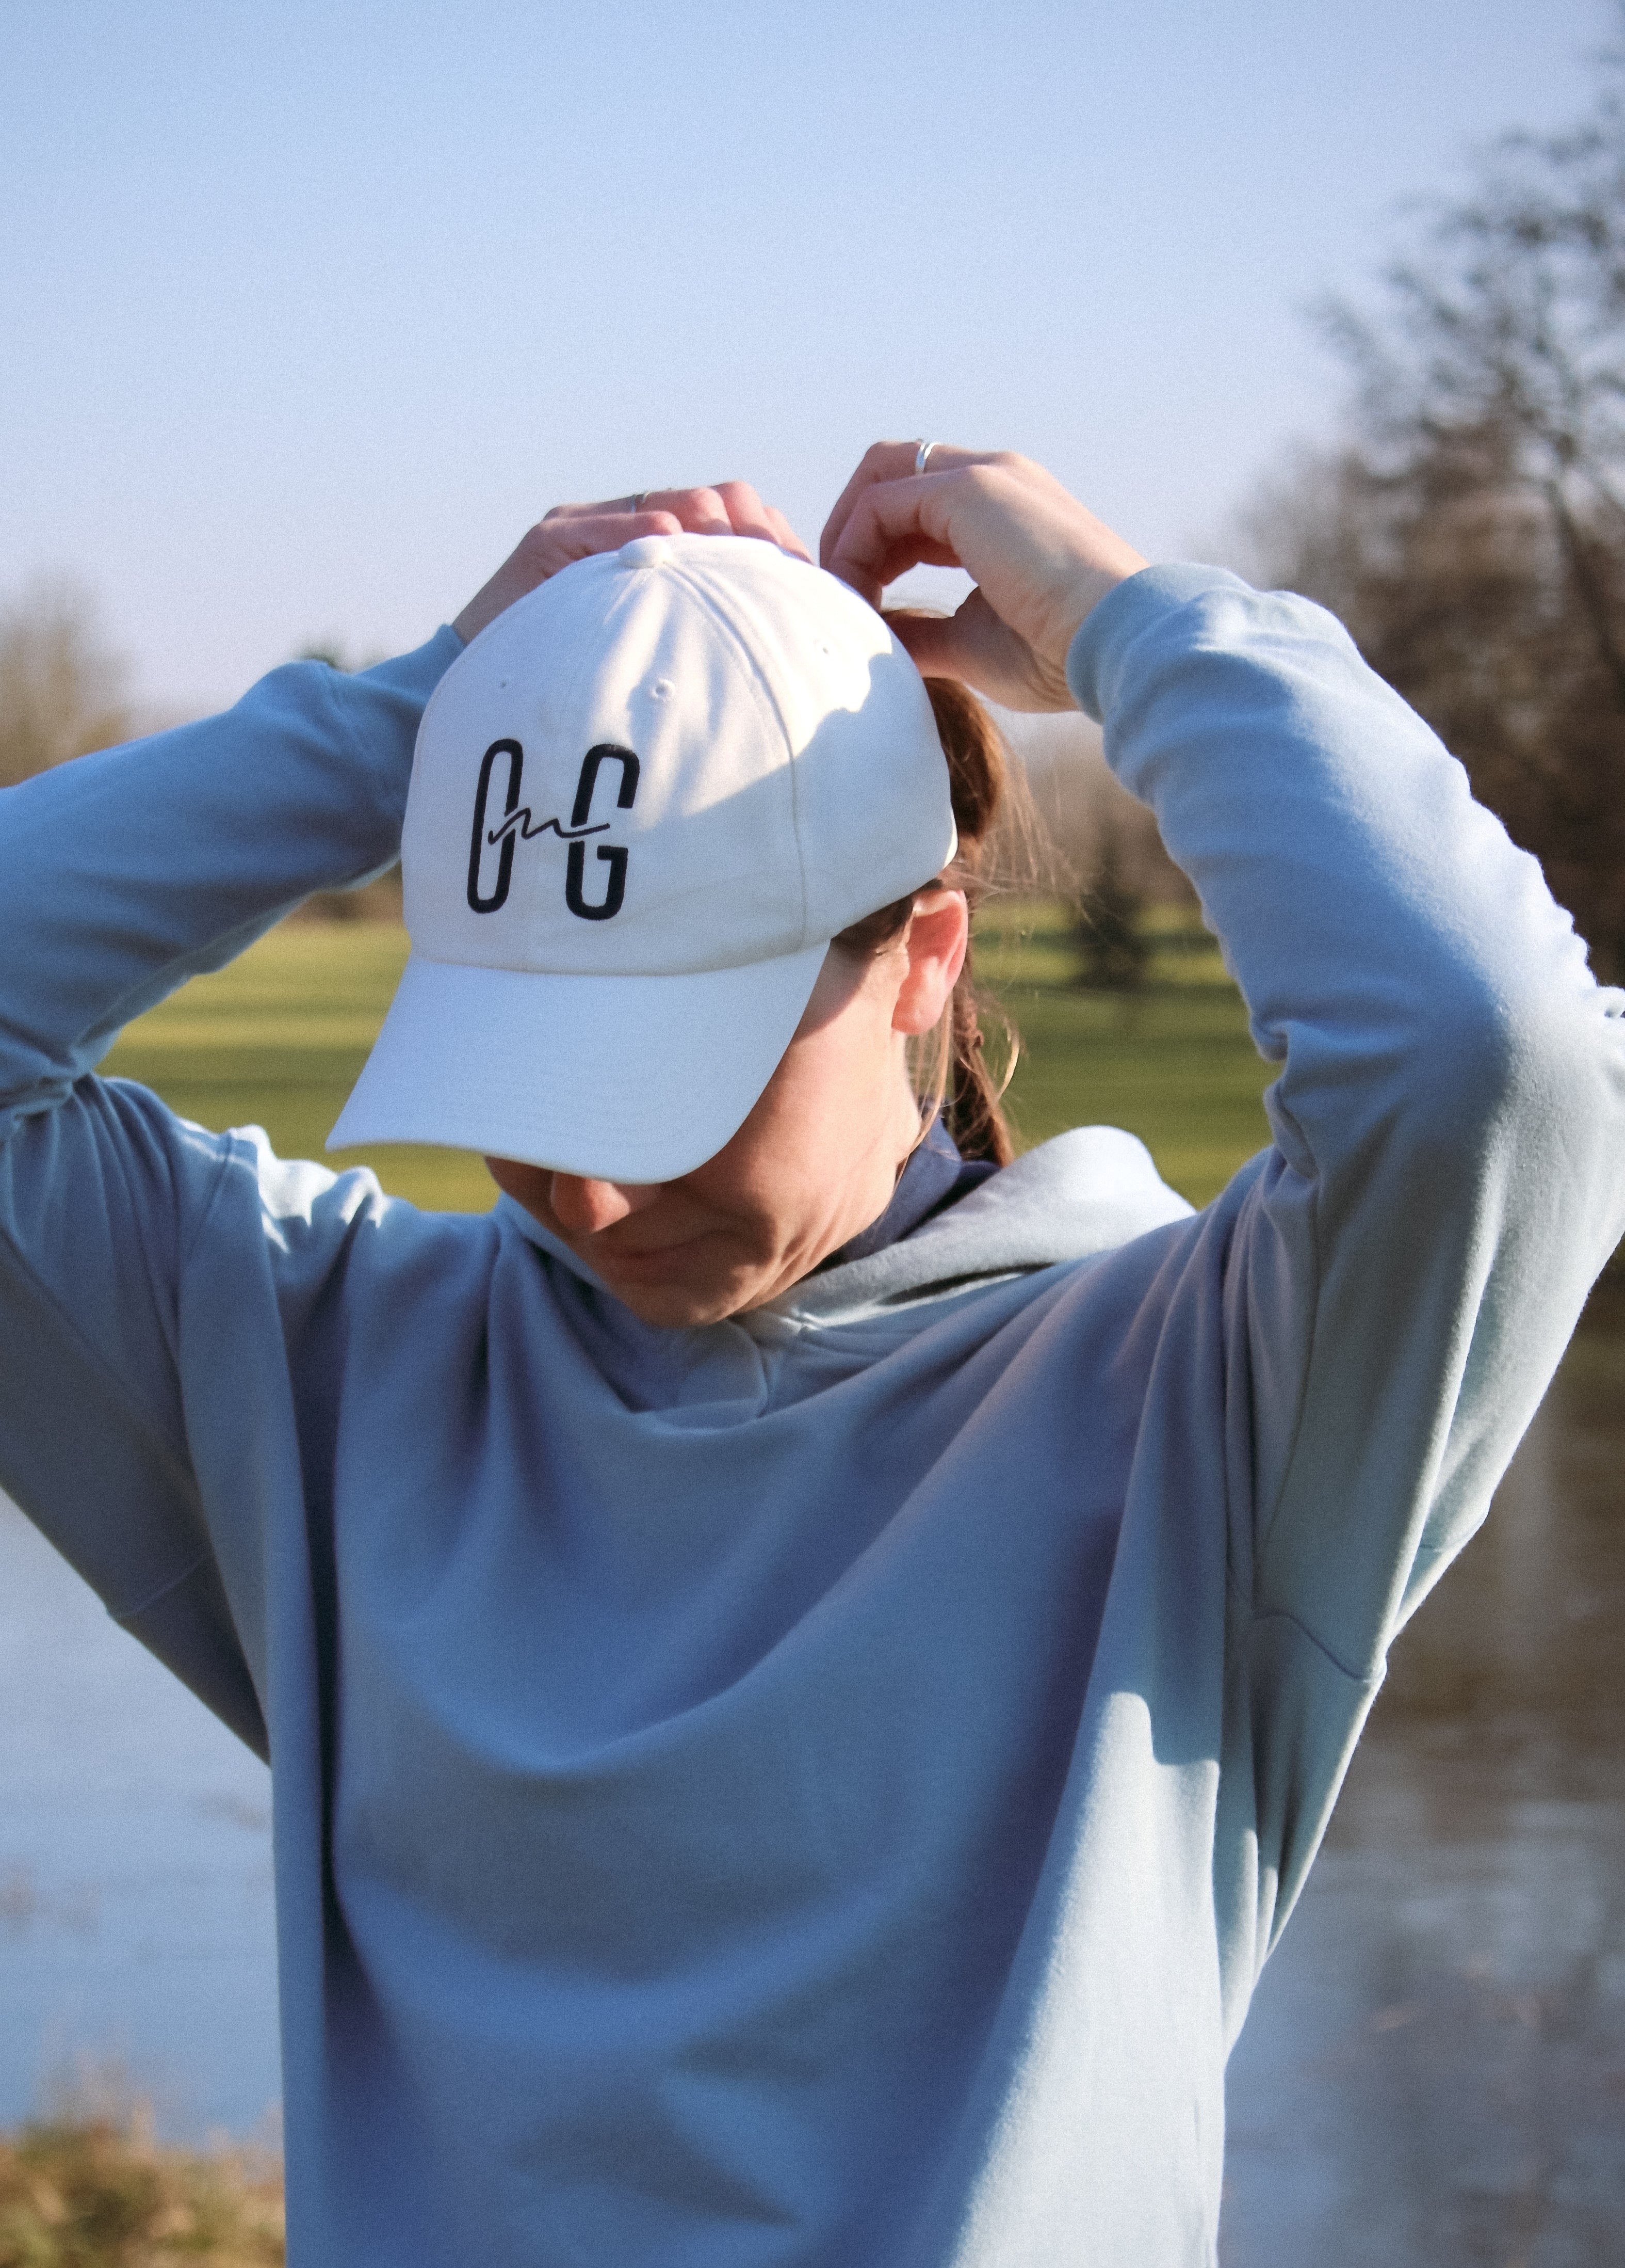
[{"label": "small pale bare tree at the far left edge", "polygon": [[0,787],[127,739],[127,678],[77,583],[32,583],[0,608]]}]

